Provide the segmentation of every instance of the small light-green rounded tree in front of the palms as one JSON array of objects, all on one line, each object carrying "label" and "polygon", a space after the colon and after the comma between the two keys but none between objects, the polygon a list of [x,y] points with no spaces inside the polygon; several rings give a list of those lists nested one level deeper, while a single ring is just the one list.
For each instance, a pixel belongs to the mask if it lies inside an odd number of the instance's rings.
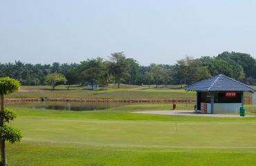
[{"label": "small light-green rounded tree in front of the palms", "polygon": [[66,77],[60,73],[51,73],[46,75],[46,82],[51,85],[53,91],[57,85],[66,83]]}]

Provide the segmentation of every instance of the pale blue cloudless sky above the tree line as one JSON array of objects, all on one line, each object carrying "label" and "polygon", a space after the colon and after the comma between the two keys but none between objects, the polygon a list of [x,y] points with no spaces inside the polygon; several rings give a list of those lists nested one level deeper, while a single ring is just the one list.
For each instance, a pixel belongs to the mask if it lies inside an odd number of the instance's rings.
[{"label": "pale blue cloudless sky above the tree line", "polygon": [[0,62],[79,63],[123,51],[142,65],[223,51],[256,57],[253,0],[0,1]]}]

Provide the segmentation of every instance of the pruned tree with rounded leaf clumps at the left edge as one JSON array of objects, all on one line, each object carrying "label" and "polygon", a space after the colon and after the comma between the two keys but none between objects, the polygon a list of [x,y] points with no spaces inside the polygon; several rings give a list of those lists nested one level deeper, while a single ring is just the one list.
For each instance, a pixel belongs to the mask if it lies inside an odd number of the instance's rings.
[{"label": "pruned tree with rounded leaf clumps at the left edge", "polygon": [[0,144],[1,144],[1,165],[6,166],[6,140],[11,143],[19,142],[21,140],[21,132],[18,129],[12,128],[6,123],[17,117],[17,114],[5,108],[4,96],[15,91],[20,87],[19,81],[10,77],[0,78]]}]

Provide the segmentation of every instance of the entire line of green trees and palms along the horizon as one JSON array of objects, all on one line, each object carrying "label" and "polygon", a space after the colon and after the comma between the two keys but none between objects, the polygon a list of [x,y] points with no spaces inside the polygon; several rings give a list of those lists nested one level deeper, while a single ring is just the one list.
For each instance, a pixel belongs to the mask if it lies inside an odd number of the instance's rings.
[{"label": "entire line of green trees and palms along the horizon", "polygon": [[27,64],[20,61],[0,63],[0,77],[12,77],[22,85],[58,84],[193,84],[223,74],[246,84],[256,84],[256,59],[246,53],[223,52],[216,57],[193,59],[186,56],[176,64],[140,65],[124,53],[112,53],[109,59],[86,59],[80,64]]}]

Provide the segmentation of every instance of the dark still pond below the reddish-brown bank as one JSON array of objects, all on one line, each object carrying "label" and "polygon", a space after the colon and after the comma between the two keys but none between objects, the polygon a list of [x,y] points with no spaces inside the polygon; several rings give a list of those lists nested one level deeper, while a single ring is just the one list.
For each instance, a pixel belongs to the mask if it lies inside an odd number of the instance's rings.
[{"label": "dark still pond below the reddish-brown bank", "polygon": [[[111,102],[39,102],[33,109],[53,109],[62,111],[98,111],[127,105],[128,103]],[[31,108],[31,107],[30,107]]]}]

